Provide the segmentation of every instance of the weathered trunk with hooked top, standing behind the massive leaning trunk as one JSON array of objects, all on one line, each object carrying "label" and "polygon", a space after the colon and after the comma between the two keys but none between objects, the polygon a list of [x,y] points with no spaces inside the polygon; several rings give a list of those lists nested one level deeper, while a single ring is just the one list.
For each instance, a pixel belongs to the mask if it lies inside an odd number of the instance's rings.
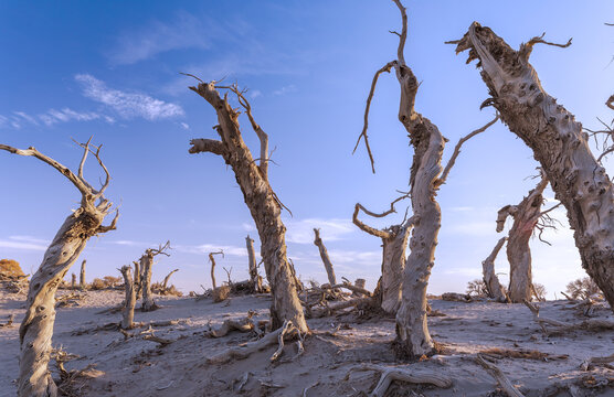
[{"label": "weathered trunk with hooked top, standing behind the massive leaning trunk", "polygon": [[512,303],[530,302],[533,279],[531,273],[531,249],[529,240],[541,216],[543,190],[548,180],[543,178],[529,195],[518,205],[506,205],[498,212],[497,232],[501,232],[508,215],[514,217],[507,242],[507,258],[509,260],[508,297]]}]

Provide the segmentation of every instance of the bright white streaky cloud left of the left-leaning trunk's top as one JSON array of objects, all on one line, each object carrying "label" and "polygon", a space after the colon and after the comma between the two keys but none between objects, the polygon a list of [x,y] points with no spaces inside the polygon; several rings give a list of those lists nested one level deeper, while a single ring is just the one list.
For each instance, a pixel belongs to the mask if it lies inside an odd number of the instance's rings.
[{"label": "bright white streaky cloud left of the left-leaning trunk's top", "polygon": [[158,120],[184,114],[179,105],[145,94],[109,88],[104,82],[89,74],[78,74],[75,79],[82,84],[84,96],[108,106],[124,118],[142,117],[147,120]]}]

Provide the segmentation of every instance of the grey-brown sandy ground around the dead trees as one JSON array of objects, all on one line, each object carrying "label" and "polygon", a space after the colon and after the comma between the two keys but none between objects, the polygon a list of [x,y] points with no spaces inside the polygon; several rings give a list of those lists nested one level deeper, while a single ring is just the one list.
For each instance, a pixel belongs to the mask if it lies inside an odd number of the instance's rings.
[{"label": "grey-brown sandy ground around the dead trees", "polygon": [[[0,329],[0,396],[15,395],[19,355],[19,322],[23,318],[23,296],[0,292],[0,322],[17,314],[15,325]],[[60,293],[66,293],[62,291]],[[78,307],[57,309],[54,346],[80,358],[66,363],[67,369],[95,364],[94,378],[74,384],[78,396],[366,396],[379,380],[373,371],[351,371],[362,363],[378,363],[411,371],[433,371],[453,380],[447,389],[393,383],[387,396],[504,396],[495,379],[472,358],[491,347],[537,350],[562,360],[500,358],[496,365],[526,396],[614,396],[614,371],[596,367],[585,372],[580,364],[589,356],[614,353],[614,331],[572,331],[563,336],[546,336],[523,304],[489,302],[447,302],[432,300],[431,305],[445,316],[428,319],[433,337],[443,353],[422,362],[396,362],[391,348],[393,319],[357,319],[354,314],[309,320],[319,337],[305,341],[305,353],[293,360],[297,347],[288,343],[276,363],[269,357],[276,346],[224,365],[209,365],[205,358],[250,341],[253,335],[231,333],[221,339],[204,335],[209,324],[226,319],[243,319],[248,310],[266,319],[267,297],[234,297],[223,303],[211,299],[157,297],[161,309],[135,313],[136,321],[186,320],[186,323],[157,328],[155,335],[173,340],[163,347],[142,337],[125,340],[117,331],[92,331],[118,322],[119,313],[99,312],[119,304],[119,291],[88,291]],[[585,320],[567,301],[540,303],[541,315],[560,321]],[[596,311],[600,319],[614,320],[607,309]],[[341,329],[334,335],[321,332]],[[80,331],[91,331],[78,334]],[[77,334],[75,334],[77,333]],[[53,363],[51,365],[56,377]],[[237,387],[247,373],[242,391]],[[595,386],[600,383],[610,386]],[[568,385],[575,385],[568,391]],[[304,390],[311,386],[307,394]],[[573,394],[572,394],[573,393]]]}]

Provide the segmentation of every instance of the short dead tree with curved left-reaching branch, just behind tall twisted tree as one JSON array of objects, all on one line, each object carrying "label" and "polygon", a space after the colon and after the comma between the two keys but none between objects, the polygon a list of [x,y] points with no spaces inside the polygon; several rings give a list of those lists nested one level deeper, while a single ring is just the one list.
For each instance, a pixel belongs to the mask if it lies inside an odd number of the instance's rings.
[{"label": "short dead tree with curved left-reaching branch, just behind tall twisted tree", "polygon": [[373,217],[384,217],[392,214],[394,203],[405,198],[400,197],[390,204],[390,210],[381,214],[373,213],[357,203],[354,205],[352,222],[362,232],[382,239],[382,276],[379,282],[379,297],[383,311],[395,314],[401,305],[401,281],[403,280],[403,270],[405,269],[405,249],[407,247],[407,238],[413,226],[413,218],[403,219],[400,225],[392,225],[384,229],[377,229],[364,224],[358,218],[359,212],[362,210],[367,215]]}]

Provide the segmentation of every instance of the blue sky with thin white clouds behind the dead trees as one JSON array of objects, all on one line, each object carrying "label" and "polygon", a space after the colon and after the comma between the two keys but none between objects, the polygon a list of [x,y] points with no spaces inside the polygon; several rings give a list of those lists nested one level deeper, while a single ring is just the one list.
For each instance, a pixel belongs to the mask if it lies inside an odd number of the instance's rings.
[{"label": "blue sky with thin white clouds behind the dead trees", "polygon": [[[483,126],[493,109],[475,65],[444,44],[476,20],[510,45],[547,32],[573,45],[536,47],[531,62],[544,88],[586,127],[610,120],[603,105],[614,93],[614,3],[611,1],[405,2],[410,34],[405,58],[422,81],[416,108],[451,141]],[[529,11],[530,10],[530,11]],[[167,239],[174,249],[155,266],[161,279],[174,268],[184,291],[210,286],[207,254],[223,248],[222,267],[246,278],[245,235],[257,233],[232,171],[213,154],[188,154],[191,138],[213,138],[215,115],[187,86],[226,78],[248,87],[253,112],[276,148],[271,182],[293,211],[285,214],[288,253],[304,280],[325,281],[313,227],[320,227],[338,277],[366,277],[373,288],[380,240],[350,222],[359,201],[380,211],[406,189],[412,151],[396,120],[395,78],[380,78],[370,116],[377,173],[364,148],[351,155],[374,71],[395,57],[399,12],[391,1],[201,1],[0,3],[0,141],[34,146],[76,167],[71,141],[103,143],[112,172],[107,196],[120,204],[118,229],[93,238],[83,254],[88,278],[118,275]],[[246,119],[241,119],[248,127]],[[244,138],[257,151],[257,138]],[[497,210],[532,189],[537,162],[502,125],[468,141],[438,200],[443,225],[430,292],[463,291],[500,236]],[[612,174],[612,163],[607,165]],[[92,182],[99,170],[86,170]],[[0,153],[0,257],[35,269],[71,208],[76,190],[49,165]],[[552,197],[552,193],[548,193]],[[383,222],[402,219],[404,207]],[[562,211],[555,215],[563,223]],[[509,227],[509,222],[508,222]],[[533,275],[550,292],[582,276],[569,229],[548,233],[552,247],[531,242]],[[32,270],[31,270],[32,269]],[[76,268],[74,269],[76,271]],[[508,273],[505,253],[497,271]],[[506,280],[506,276],[501,276]],[[552,297],[552,294],[550,294]]]}]

